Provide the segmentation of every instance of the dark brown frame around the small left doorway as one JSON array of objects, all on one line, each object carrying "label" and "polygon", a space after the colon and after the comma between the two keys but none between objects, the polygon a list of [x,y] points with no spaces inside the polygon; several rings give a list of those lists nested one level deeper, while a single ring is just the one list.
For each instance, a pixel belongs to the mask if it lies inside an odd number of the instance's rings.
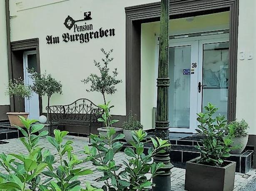
[{"label": "dark brown frame around the small left doorway", "polygon": [[[37,54],[37,72],[40,73],[40,56],[39,56],[39,39],[26,39],[21,41],[13,41],[10,43],[10,49],[11,49],[11,62],[9,62],[9,78],[13,79],[14,73],[20,74],[20,76],[23,76],[23,70],[17,71],[17,68],[13,65],[13,54],[15,54],[15,51],[30,51],[35,50]],[[20,60],[20,64],[23,65],[23,60]],[[10,99],[10,107],[11,111],[15,111],[15,99]],[[39,97],[39,111],[40,115],[42,115],[42,97]]]}]

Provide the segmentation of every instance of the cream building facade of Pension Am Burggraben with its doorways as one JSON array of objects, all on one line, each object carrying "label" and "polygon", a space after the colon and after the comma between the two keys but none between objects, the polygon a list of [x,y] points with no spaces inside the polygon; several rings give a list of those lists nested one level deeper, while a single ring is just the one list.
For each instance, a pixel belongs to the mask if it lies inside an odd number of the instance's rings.
[{"label": "cream building facade of Pension Am Burggraben with its doorways", "polygon": [[[29,76],[27,68],[52,74],[63,85],[51,105],[87,98],[81,80],[98,73],[100,49],[113,49],[117,68],[112,115],[137,114],[144,129],[154,128],[157,99],[159,0],[5,0],[0,2],[0,120],[17,110],[5,94],[9,79]],[[171,132],[194,133],[196,114],[207,102],[229,120],[244,118],[250,140],[256,135],[256,2],[254,0],[170,0],[169,120]],[[4,31],[4,32],[2,32]],[[26,82],[30,83],[30,82]],[[35,118],[46,113],[46,97],[34,95],[21,109]]]}]

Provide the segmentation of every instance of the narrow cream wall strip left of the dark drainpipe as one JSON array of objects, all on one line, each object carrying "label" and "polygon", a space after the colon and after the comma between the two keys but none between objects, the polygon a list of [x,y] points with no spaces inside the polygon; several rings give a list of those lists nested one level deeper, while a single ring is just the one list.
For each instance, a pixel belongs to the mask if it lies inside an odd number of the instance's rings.
[{"label": "narrow cream wall strip left of the dark drainpipe", "polygon": [[0,1],[0,105],[10,105],[10,97],[5,95],[8,84],[8,58],[5,19],[5,0]]}]

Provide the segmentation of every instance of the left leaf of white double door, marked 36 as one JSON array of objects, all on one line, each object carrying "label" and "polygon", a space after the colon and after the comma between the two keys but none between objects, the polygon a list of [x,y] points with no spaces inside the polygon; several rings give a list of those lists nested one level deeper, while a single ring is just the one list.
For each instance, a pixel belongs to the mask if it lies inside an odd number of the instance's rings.
[{"label": "left leaf of white double door, marked 36", "polygon": [[198,41],[169,44],[169,121],[171,132],[196,128]]}]

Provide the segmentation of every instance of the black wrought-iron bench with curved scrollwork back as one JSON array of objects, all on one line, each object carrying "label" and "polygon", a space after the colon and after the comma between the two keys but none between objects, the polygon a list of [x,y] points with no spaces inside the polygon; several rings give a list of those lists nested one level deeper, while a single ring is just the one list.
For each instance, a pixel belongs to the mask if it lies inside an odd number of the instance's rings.
[{"label": "black wrought-iron bench with curved scrollwork back", "polygon": [[71,130],[74,129],[73,127],[82,127],[79,131],[85,135],[90,135],[92,124],[102,127],[102,123],[98,121],[102,109],[89,99],[78,99],[69,105],[47,106],[46,110],[50,126],[62,125],[64,129],[66,126],[70,126]]}]

